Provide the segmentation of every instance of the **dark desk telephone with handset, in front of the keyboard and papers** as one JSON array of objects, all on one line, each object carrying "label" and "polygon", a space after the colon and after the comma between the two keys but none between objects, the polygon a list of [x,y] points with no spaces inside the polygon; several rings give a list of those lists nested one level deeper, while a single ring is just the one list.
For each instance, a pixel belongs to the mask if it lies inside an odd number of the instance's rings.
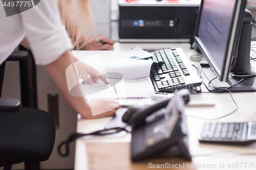
[{"label": "dark desk telephone with handset, in front of the keyboard and papers", "polygon": [[[190,160],[187,147],[187,128],[184,118],[185,103],[189,102],[189,91],[175,92],[176,99],[164,100],[152,106],[134,105],[121,108],[105,126],[132,127],[131,156],[133,161],[165,154],[166,150],[178,149],[178,154]],[[120,121],[122,119],[122,121]],[[129,128],[127,128],[129,129]],[[173,147],[172,147],[173,146]]]}]

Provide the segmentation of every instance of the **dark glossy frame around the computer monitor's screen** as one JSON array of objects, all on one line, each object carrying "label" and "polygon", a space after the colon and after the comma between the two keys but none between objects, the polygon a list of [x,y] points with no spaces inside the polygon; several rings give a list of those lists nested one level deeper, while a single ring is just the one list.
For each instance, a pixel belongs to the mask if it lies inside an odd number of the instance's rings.
[{"label": "dark glossy frame around the computer monitor's screen", "polygon": [[233,63],[234,59],[237,57],[246,3],[247,0],[236,1],[236,5],[234,6],[233,11],[233,17],[229,28],[230,34],[227,38],[228,48],[226,47],[225,49],[223,65],[221,68],[219,68],[219,66],[217,66],[214,59],[211,57],[210,53],[207,51],[207,48],[204,46],[202,40],[198,35],[202,7],[204,4],[204,0],[201,0],[194,41],[220,81],[226,82],[228,80],[231,63]]}]

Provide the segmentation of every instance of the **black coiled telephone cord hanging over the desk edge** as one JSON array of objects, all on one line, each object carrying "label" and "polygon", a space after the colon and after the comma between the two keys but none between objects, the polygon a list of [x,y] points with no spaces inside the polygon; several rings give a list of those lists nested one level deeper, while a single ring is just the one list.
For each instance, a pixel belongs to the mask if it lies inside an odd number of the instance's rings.
[{"label": "black coiled telephone cord hanging over the desk edge", "polygon": [[[57,147],[57,151],[58,151],[58,154],[62,157],[66,157],[69,155],[69,144],[70,142],[76,140],[77,138],[79,137],[82,137],[82,136],[104,136],[104,135],[111,135],[111,134],[116,134],[116,133],[119,133],[121,131],[126,131],[127,133],[129,133],[125,127],[124,128],[112,128],[112,129],[105,129],[105,130],[100,130],[100,131],[96,131],[96,132],[92,132],[92,133],[88,133],[88,134],[85,134],[85,133],[73,133],[71,134],[67,140],[65,141],[62,141],[58,144],[58,147]],[[65,152],[61,152],[61,148],[62,146],[66,146],[65,147]]]}]

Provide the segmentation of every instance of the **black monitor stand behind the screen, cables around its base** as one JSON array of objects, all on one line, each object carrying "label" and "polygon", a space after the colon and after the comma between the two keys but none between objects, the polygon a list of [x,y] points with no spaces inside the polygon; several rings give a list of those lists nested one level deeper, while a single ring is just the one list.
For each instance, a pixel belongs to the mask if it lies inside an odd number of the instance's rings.
[{"label": "black monitor stand behind the screen, cables around its base", "polygon": [[[250,48],[251,48],[251,32],[252,32],[252,23],[251,23],[251,13],[249,10],[245,10],[243,28],[241,32],[239,47],[238,47],[238,55],[232,61],[231,71],[235,75],[248,75],[252,73],[251,63],[250,63]],[[256,69],[256,68],[255,68]],[[202,73],[201,79],[206,85],[208,90],[212,90],[208,86],[210,80],[214,79],[216,76],[211,72],[210,69],[203,68],[204,74]],[[212,77],[212,75],[214,77]],[[227,82],[220,82],[218,79],[212,81],[212,84],[217,87],[226,88],[229,87],[243,78],[240,77],[228,77]],[[211,85],[212,85],[211,84]],[[216,90],[216,89],[215,89]],[[245,78],[238,85],[230,87],[229,90],[231,92],[253,92],[256,91],[256,79],[255,77]],[[223,90],[222,92],[228,92],[227,90]]]}]

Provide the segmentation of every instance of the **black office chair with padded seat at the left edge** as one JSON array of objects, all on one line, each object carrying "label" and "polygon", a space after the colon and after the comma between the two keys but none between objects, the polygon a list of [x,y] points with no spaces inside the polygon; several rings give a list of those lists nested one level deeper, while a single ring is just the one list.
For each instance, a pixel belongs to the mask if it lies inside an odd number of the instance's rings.
[{"label": "black office chair with padded seat at the left edge", "polygon": [[[26,60],[28,52],[14,52],[8,60]],[[5,62],[0,65],[0,96]],[[0,98],[0,167],[47,160],[53,150],[55,124],[52,116],[35,108],[20,108],[16,99]],[[25,169],[32,166],[25,165]]]}]

